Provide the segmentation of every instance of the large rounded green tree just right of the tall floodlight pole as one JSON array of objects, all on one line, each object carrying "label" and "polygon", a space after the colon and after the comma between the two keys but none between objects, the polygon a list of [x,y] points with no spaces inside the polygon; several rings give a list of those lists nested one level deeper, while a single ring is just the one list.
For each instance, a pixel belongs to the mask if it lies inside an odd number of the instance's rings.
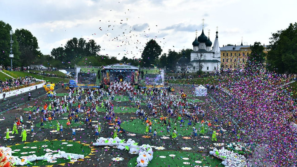
[{"label": "large rounded green tree just right of the tall floodlight pole", "polygon": [[16,29],[15,35],[17,37],[17,42],[19,44],[20,63],[22,66],[29,66],[37,59],[40,53],[37,49],[38,42],[37,38],[32,35],[29,30],[26,29]]}]

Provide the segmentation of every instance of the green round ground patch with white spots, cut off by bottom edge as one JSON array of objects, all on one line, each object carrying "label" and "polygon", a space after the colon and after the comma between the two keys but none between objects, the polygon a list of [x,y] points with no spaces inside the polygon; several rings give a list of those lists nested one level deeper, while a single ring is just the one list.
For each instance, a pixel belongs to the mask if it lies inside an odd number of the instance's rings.
[{"label": "green round ground patch with white spots, cut off by bottom edge", "polygon": [[[138,156],[132,158],[128,162],[128,167],[134,167]],[[173,166],[173,167],[186,167],[186,166],[213,166],[224,167],[218,158],[205,155],[205,153],[196,153],[188,151],[166,151],[156,150],[153,154],[153,159],[150,161],[148,167],[155,166]]]}]

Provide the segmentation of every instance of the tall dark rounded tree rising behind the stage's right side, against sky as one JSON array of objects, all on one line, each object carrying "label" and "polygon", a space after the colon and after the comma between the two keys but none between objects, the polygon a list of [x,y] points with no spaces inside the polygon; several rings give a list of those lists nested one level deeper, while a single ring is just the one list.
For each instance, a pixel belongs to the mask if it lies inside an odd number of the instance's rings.
[{"label": "tall dark rounded tree rising behind the stage's right side, against sky", "polygon": [[152,67],[151,64],[156,63],[156,60],[161,55],[162,49],[160,45],[154,39],[149,40],[146,43],[145,48],[142,51],[141,58],[142,58],[142,66],[143,67]]}]

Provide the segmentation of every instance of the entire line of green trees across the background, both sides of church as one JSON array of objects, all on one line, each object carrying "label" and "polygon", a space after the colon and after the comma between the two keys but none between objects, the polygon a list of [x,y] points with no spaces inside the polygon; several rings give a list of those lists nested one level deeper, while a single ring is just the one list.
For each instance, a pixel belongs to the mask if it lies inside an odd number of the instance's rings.
[{"label": "entire line of green trees across the background, both sides of church", "polygon": [[[12,27],[0,21],[0,59],[1,65],[10,66],[10,30]],[[266,68],[280,73],[297,73],[297,23],[290,24],[285,30],[272,33],[269,38],[265,54],[260,42],[251,46],[252,52],[248,59]],[[83,38],[72,38],[62,47],[53,48],[50,55],[44,55],[39,50],[37,38],[27,29],[16,29],[12,35],[13,40],[13,66],[44,65],[45,67],[68,68],[74,65],[102,66],[123,62],[140,67],[164,68],[168,72],[176,72],[179,58],[185,56],[190,59],[192,49],[175,51],[169,49],[164,53],[160,45],[149,40],[143,48],[141,58],[122,57],[119,60],[115,55],[100,55],[101,46],[94,40],[86,41]],[[163,54],[162,54],[163,52]]]}]

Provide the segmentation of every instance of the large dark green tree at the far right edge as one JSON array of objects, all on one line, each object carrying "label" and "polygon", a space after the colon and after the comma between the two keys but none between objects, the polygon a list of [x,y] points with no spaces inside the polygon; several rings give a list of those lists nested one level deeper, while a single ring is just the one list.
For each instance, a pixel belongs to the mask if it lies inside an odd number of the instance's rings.
[{"label": "large dark green tree at the far right edge", "polygon": [[271,50],[267,55],[267,68],[279,73],[297,73],[294,65],[297,60],[297,23],[291,23],[287,29],[272,33],[269,39],[271,41],[268,48]]}]

